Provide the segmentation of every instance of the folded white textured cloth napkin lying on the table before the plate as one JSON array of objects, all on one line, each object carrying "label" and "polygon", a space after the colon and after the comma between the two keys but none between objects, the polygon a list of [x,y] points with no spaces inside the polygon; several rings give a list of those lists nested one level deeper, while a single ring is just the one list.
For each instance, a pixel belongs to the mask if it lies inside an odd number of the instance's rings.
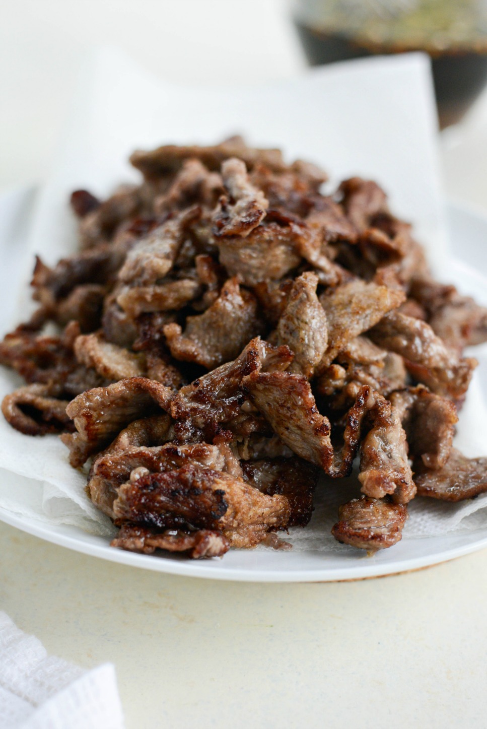
[{"label": "folded white textured cloth napkin lying on the table before the plate", "polygon": [[123,729],[112,663],[84,671],[47,655],[39,640],[0,612],[3,729]]}]

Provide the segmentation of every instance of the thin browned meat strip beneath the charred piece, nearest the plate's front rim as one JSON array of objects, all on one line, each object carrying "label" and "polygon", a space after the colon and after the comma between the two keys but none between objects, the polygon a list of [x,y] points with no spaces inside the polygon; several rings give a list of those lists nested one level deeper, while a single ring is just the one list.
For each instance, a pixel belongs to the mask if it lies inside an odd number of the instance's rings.
[{"label": "thin browned meat strip beneath the charred piece, nearest the plate's front rim", "polygon": [[219,531],[200,529],[200,531],[163,531],[155,532],[144,526],[123,524],[117,537],[110,542],[129,552],[152,554],[156,549],[166,552],[188,552],[192,559],[203,557],[222,557],[230,548],[228,539]]}]

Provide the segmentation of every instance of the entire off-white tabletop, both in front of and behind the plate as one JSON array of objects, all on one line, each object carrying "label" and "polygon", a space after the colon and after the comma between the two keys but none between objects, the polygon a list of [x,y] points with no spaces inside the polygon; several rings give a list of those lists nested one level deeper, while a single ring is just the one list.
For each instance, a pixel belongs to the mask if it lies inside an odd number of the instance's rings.
[{"label": "entire off-white tabletop, both in front of and behind the plate", "polygon": [[[4,4],[0,188],[42,180],[79,57],[101,41],[183,81],[303,66],[279,0]],[[447,192],[487,210],[484,108],[487,97],[467,136],[442,144]],[[487,725],[487,550],[378,580],[224,583],[104,562],[0,523],[0,574],[0,609],[48,652],[113,661],[128,729]]]}]

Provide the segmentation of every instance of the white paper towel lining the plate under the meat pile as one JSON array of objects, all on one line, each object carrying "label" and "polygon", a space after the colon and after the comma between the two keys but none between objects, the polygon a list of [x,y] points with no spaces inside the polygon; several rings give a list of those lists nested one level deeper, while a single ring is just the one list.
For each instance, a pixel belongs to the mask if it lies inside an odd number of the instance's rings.
[{"label": "white paper towel lining the plate under the meat pile", "polygon": [[[392,209],[414,222],[432,262],[443,261],[448,243],[435,118],[429,61],[420,54],[338,64],[270,86],[190,89],[157,82],[117,52],[99,50],[80,74],[65,139],[39,195],[28,249],[48,263],[73,251],[69,193],[87,187],[106,195],[120,182],[137,179],[126,162],[134,148],[214,143],[244,133],[252,144],[282,147],[289,159],[304,157],[321,164],[335,181],[352,174],[377,179],[389,192]],[[17,319],[26,318],[23,290]],[[1,369],[0,397],[14,383],[12,374]],[[475,418],[469,421],[463,413],[466,440],[475,429]],[[94,534],[112,534],[109,520],[85,496],[85,475],[69,467],[58,438],[27,438],[0,418],[0,443],[0,506]],[[483,499],[453,507],[455,518],[440,517],[438,526],[427,513],[434,515],[436,509],[441,514],[451,505],[429,502],[424,519],[421,512],[417,521],[409,520],[408,532],[413,536],[416,526],[418,536],[429,529],[456,528],[461,510],[469,510],[472,503],[479,508]],[[412,509],[421,510],[421,504]],[[313,539],[313,529],[305,533]],[[298,540],[303,548],[308,544],[305,533]]]}]

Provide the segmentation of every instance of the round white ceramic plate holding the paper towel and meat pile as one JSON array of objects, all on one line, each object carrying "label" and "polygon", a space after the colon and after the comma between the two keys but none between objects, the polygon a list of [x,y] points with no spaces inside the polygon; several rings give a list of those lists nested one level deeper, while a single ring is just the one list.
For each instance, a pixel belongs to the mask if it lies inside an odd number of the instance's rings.
[{"label": "round white ceramic plate holding the paper towel and meat pile", "polygon": [[[23,228],[19,221],[28,217],[31,191],[18,190],[0,197],[0,238],[9,235],[19,243]],[[461,282],[462,290],[487,303],[486,278],[476,271],[487,272],[487,219],[457,205],[448,206],[448,223],[453,249],[457,256],[448,265],[448,273]],[[4,262],[8,266],[8,261]],[[472,267],[473,271],[466,268]],[[487,370],[487,368],[484,368]],[[487,391],[487,371],[482,387]],[[445,534],[440,537],[402,539],[390,550],[367,558],[352,547],[337,551],[231,550],[222,560],[191,561],[180,555],[139,555],[109,547],[107,539],[94,537],[74,526],[47,526],[31,518],[18,517],[0,508],[0,520],[29,534],[62,547],[103,559],[129,564],[158,572],[207,577],[215,580],[252,582],[327,582],[380,577],[408,572],[460,557],[487,547],[486,526],[475,531]]]}]

